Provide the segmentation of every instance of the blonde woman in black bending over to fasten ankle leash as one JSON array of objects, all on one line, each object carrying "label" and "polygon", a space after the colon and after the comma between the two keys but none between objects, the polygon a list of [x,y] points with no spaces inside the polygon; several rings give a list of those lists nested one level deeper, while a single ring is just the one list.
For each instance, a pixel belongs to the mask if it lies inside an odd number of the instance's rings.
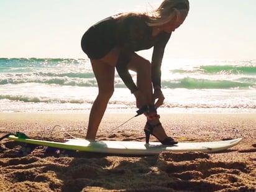
[{"label": "blonde woman in black bending over to fasten ankle leash", "polygon": [[[185,21],[188,11],[188,0],[165,0],[153,12],[118,14],[98,22],[85,32],[81,47],[91,60],[99,88],[89,115],[86,139],[94,140],[96,137],[107,103],[114,92],[116,68],[134,94],[139,111],[147,117],[144,129],[146,143],[149,143],[150,135],[164,145],[177,143],[167,136],[157,114],[157,108],[165,99],[161,91],[160,67],[171,32]],[[151,63],[135,53],[151,47]],[[129,70],[137,73],[136,84]]]}]

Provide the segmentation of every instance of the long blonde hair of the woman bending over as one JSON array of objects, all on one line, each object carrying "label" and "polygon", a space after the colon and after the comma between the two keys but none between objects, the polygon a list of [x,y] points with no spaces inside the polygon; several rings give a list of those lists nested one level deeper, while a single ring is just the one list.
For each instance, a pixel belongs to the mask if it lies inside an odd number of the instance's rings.
[{"label": "long blonde hair of the woman bending over", "polygon": [[165,0],[157,9],[147,12],[127,12],[113,16],[114,19],[122,19],[127,16],[139,16],[145,19],[147,25],[159,26],[167,24],[173,19],[185,19],[190,9],[188,0]]}]

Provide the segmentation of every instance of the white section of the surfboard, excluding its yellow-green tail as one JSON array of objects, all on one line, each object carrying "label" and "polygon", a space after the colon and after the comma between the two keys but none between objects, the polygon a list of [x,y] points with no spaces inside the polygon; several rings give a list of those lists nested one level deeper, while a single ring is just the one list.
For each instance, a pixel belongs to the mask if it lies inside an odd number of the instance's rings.
[{"label": "white section of the surfboard, excluding its yellow-green tail", "polygon": [[218,142],[180,142],[176,145],[162,145],[160,142],[114,141],[101,140],[88,142],[85,139],[69,139],[65,144],[82,145],[93,149],[93,152],[150,155],[161,152],[207,152],[225,150],[239,144],[242,139],[222,140]]}]

